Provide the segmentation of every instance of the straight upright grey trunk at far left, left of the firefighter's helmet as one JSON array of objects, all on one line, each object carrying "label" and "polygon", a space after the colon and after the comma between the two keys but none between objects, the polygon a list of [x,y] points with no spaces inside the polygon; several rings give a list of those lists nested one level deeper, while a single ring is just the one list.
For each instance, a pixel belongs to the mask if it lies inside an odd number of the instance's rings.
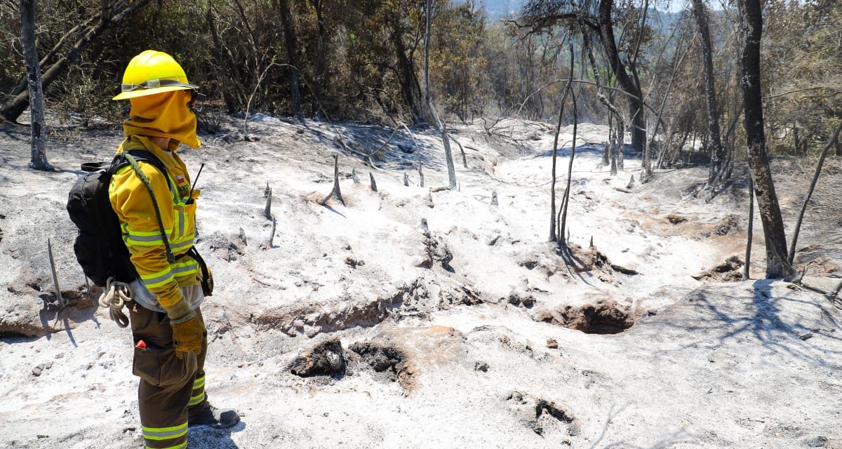
[{"label": "straight upright grey trunk at far left, left of the firefighter's helmet", "polygon": [[44,92],[41,90],[41,73],[38,49],[35,45],[35,0],[20,0],[20,42],[24,46],[26,78],[29,80],[29,137],[31,158],[29,167],[36,170],[52,170],[44,149],[46,127],[44,126]]}]

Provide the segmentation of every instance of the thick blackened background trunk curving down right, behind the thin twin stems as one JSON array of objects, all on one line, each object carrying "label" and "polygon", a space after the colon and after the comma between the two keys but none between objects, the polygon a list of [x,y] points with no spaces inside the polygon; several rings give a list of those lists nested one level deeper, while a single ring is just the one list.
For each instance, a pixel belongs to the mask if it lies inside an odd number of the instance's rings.
[{"label": "thick blackened background trunk curving down right, behind the thin twin stems", "polygon": [[[614,37],[614,24],[611,19],[611,8],[614,7],[614,0],[600,0],[600,41],[602,42],[611,71],[617,78],[617,83],[625,90],[629,97],[629,117],[631,124],[629,131],[632,132],[632,147],[635,151],[642,151],[646,145],[646,123],[643,117],[643,94],[640,83],[637,82],[626,71],[626,64],[620,60],[620,52],[617,50],[617,42]],[[629,61],[631,63],[631,61]]]}]

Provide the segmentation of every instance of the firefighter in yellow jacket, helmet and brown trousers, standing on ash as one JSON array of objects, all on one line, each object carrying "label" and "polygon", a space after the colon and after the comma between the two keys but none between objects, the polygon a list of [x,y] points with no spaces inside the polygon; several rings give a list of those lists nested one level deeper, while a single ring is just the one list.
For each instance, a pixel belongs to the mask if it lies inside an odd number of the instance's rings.
[{"label": "firefighter in yellow jacket, helmet and brown trousers, standing on ash", "polygon": [[200,146],[191,110],[197,89],[172,56],[144,51],[129,62],[121,92],[114,97],[131,102],[123,124],[125,140],[117,152],[143,150],[166,168],[162,173],[152,163],[139,162],[145,176],[120,168],[109,186],[111,206],[139,276],[130,284],[132,372],[141,378],[138,404],[150,449],[187,447],[189,425],[231,427],[239,422],[236,411],[216,409],[205,393],[207,331],[200,305],[212,281],[193,248],[200,190],[192,188],[177,152],[182,144]]}]

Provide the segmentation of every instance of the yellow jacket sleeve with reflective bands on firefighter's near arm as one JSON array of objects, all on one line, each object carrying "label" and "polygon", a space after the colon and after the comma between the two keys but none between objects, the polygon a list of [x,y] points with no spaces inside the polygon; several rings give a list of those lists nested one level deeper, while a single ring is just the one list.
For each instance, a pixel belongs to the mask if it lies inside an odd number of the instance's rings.
[{"label": "yellow jacket sleeve with reflective bands on firefighter's near arm", "polygon": [[[152,191],[161,211],[163,231],[173,235],[173,197],[164,175],[155,166],[140,162],[143,174],[149,179]],[[184,299],[179,284],[173,277],[167,261],[167,252],[161,238],[155,208],[149,190],[131,166],[120,168],[109,186],[111,206],[120,219],[123,241],[131,254],[141,281],[161,307],[170,309]]]}]

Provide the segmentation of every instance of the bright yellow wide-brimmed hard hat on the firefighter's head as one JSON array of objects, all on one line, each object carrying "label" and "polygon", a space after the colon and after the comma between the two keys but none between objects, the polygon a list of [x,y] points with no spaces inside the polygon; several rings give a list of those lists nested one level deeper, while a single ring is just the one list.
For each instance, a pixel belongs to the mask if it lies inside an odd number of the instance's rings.
[{"label": "bright yellow wide-brimmed hard hat on the firefighter's head", "polygon": [[147,50],[131,58],[123,72],[120,94],[113,99],[133,99],[145,95],[163,94],[173,90],[197,90],[199,86],[187,81],[187,74],[179,63],[163,51]]}]

